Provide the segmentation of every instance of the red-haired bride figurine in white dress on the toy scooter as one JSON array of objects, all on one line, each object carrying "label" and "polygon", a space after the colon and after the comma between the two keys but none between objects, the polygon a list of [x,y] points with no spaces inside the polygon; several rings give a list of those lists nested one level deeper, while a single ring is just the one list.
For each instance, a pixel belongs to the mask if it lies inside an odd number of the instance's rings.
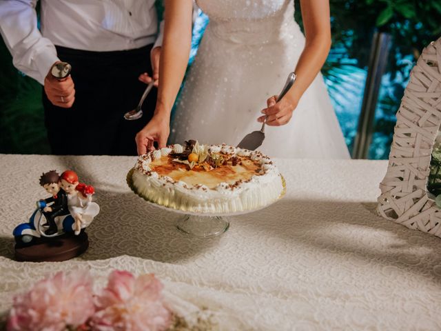
[{"label": "red-haired bride figurine in white dress on the toy scooter", "polygon": [[68,208],[75,220],[74,233],[78,235],[99,213],[98,203],[92,201],[94,188],[79,183],[78,175],[72,170],[63,172],[60,182],[61,188],[68,194]]}]

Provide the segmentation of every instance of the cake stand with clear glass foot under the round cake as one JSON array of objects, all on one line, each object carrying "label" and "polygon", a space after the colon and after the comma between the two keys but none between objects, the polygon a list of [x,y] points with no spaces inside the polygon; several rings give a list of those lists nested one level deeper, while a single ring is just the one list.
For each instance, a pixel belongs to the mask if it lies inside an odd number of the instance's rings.
[{"label": "cake stand with clear glass foot under the round cake", "polygon": [[252,210],[243,210],[240,212],[223,212],[223,213],[189,212],[188,210],[180,210],[176,208],[170,208],[165,205],[160,205],[143,197],[141,194],[139,194],[139,192],[137,192],[136,188],[133,185],[133,181],[132,181],[133,172],[134,169],[131,169],[127,173],[127,185],[129,185],[132,191],[136,195],[147,201],[147,203],[150,203],[157,208],[168,210],[170,212],[176,212],[178,214],[183,214],[183,217],[178,219],[178,221],[176,222],[176,228],[179,231],[188,234],[189,236],[198,237],[198,238],[211,238],[211,237],[216,237],[219,234],[223,234],[229,228],[228,217],[248,214],[249,212],[256,212],[257,210],[267,208],[272,203],[282,199],[282,197],[286,193],[285,179],[282,177],[283,191],[280,193],[280,196],[276,200],[260,208],[256,208]]}]

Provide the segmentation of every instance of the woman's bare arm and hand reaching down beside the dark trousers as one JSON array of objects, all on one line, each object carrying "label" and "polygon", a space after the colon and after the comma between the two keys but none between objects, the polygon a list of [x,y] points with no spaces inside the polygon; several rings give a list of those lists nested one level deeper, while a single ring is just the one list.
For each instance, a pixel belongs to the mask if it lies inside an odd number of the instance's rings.
[{"label": "woman's bare arm and hand reaching down beside the dark trousers", "polygon": [[165,28],[159,63],[158,99],[154,116],[136,134],[138,154],[163,148],[170,133],[170,112],[187,68],[192,42],[192,0],[165,0]]}]

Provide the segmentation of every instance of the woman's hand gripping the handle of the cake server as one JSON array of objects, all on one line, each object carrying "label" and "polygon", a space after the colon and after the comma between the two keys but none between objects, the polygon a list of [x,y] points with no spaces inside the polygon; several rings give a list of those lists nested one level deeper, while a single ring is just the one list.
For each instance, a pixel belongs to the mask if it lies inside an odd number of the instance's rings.
[{"label": "woman's hand gripping the handle of the cake server", "polygon": [[292,112],[297,107],[297,101],[291,99],[289,94],[285,94],[280,101],[276,102],[276,95],[273,95],[267,100],[268,108],[262,110],[261,116],[257,119],[258,122],[263,123],[267,117],[267,126],[284,126],[292,117]]}]

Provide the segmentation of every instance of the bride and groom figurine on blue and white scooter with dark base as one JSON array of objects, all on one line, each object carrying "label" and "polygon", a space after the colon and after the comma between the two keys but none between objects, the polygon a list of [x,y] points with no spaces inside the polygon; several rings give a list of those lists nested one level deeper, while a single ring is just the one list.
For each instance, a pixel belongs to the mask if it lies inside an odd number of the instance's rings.
[{"label": "bride and groom figurine on blue and white scooter with dark base", "polygon": [[79,183],[76,172],[44,172],[39,183],[50,197],[37,201],[26,223],[14,229],[15,257],[21,261],[63,261],[87,250],[83,229],[99,214],[94,188]]}]

